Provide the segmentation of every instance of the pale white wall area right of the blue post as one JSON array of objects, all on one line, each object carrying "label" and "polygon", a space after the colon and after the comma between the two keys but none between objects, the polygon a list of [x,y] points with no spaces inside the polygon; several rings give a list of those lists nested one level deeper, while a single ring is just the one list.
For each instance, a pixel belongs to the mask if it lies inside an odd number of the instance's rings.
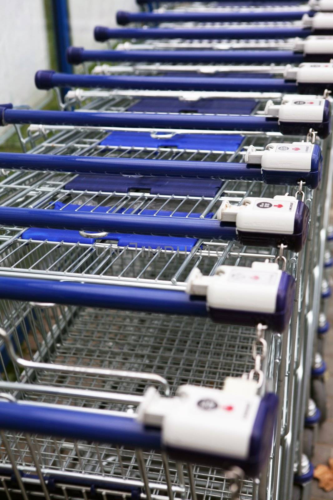
[{"label": "pale white wall area right of the blue post", "polygon": [[135,0],[68,0],[68,6],[72,43],[87,49],[105,48],[94,40],[95,26],[116,27],[117,10],[138,10]]}]

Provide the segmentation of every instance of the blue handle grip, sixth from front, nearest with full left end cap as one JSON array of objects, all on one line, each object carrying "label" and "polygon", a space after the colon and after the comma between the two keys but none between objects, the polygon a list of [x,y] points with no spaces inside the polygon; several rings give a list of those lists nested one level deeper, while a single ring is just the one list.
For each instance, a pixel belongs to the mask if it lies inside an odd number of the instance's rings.
[{"label": "blue handle grip, sixth from front, nearest with full left end cap", "polygon": [[207,90],[207,91],[272,91],[296,92],[297,85],[283,78],[228,78],[211,76],[133,76],[56,73],[39,70],[35,74],[37,88],[52,87],[126,88],[149,90]]}]

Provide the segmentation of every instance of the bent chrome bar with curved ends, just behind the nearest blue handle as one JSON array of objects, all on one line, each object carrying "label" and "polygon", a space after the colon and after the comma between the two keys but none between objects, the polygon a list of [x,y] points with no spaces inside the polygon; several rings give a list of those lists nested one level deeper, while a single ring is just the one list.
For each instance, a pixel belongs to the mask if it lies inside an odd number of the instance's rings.
[{"label": "bent chrome bar with curved ends, just behind the nearest blue handle", "polygon": [[165,393],[168,395],[170,392],[169,384],[167,380],[160,376],[155,375],[154,373],[146,373],[141,371],[130,371],[130,370],[114,370],[110,368],[99,368],[93,366],[77,366],[77,365],[67,365],[67,364],[58,364],[58,363],[43,363],[37,361],[30,361],[28,359],[23,359],[14,351],[13,345],[11,343],[10,337],[7,333],[0,328],[0,337],[4,341],[6,346],[6,350],[9,354],[9,357],[13,364],[20,366],[21,368],[31,368],[34,370],[44,370],[44,371],[57,371],[57,372],[66,372],[66,373],[81,373],[88,374],[93,376],[104,375],[107,377],[119,377],[119,378],[130,378],[130,379],[138,379],[138,380],[148,380],[152,383],[156,383],[158,385],[162,385]]}]

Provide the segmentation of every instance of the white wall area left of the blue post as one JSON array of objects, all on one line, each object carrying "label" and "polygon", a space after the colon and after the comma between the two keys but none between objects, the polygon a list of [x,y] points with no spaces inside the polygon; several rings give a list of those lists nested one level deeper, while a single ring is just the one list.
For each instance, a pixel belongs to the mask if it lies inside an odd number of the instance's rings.
[{"label": "white wall area left of the blue post", "polygon": [[38,105],[34,73],[49,67],[43,0],[0,0],[0,102]]}]

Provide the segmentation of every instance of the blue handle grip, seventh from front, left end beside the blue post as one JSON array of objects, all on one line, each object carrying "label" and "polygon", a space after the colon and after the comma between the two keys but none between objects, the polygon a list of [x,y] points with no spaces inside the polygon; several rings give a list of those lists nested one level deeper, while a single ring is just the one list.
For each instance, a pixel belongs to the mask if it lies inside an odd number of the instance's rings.
[{"label": "blue handle grip, seventh from front, left end beside the blue post", "polygon": [[68,47],[66,54],[71,64],[89,61],[299,64],[305,60],[302,53],[292,50],[85,50]]}]

